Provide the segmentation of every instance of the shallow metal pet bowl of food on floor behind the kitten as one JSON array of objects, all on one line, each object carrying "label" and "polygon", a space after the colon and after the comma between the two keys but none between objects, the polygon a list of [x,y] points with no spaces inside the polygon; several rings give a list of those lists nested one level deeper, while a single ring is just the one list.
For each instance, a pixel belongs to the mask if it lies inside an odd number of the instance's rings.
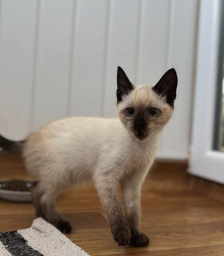
[{"label": "shallow metal pet bowl of food on floor behind the kitten", "polygon": [[0,182],[0,198],[12,202],[32,202],[31,186],[30,181]]}]

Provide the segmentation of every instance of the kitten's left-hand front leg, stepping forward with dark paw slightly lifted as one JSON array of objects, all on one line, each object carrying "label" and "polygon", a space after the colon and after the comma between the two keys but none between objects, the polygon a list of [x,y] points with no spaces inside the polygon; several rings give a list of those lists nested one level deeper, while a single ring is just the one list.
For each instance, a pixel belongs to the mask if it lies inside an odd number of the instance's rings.
[{"label": "kitten's left-hand front leg, stepping forward with dark paw slightly lifted", "polygon": [[108,178],[106,180],[105,178],[99,177],[95,178],[94,183],[99,194],[100,201],[108,216],[114,240],[119,245],[125,246],[129,244],[131,232],[117,197],[116,183],[111,182]]}]

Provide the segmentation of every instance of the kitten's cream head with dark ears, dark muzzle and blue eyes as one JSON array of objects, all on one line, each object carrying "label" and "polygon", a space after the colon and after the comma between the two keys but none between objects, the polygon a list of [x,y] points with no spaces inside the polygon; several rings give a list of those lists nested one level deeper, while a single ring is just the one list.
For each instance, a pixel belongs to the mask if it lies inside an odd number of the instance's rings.
[{"label": "kitten's cream head with dark ears, dark muzzle and blue eyes", "polygon": [[172,116],[177,73],[169,69],[155,86],[134,86],[122,68],[117,68],[117,110],[126,129],[144,141],[163,130]]}]

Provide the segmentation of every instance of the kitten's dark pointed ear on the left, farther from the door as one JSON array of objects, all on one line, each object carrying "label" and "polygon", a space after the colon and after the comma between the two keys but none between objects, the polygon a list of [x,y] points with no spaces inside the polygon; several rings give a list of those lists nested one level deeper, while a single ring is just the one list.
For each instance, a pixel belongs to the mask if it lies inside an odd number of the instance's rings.
[{"label": "kitten's dark pointed ear on the left, farther from the door", "polygon": [[122,101],[122,96],[128,95],[132,90],[134,90],[134,85],[130,82],[124,70],[118,66],[117,67],[117,103]]}]

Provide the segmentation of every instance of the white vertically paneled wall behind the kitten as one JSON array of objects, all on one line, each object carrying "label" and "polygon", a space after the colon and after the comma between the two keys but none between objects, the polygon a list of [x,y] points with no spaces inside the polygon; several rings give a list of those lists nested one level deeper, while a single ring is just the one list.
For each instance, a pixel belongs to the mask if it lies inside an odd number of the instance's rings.
[{"label": "white vertically paneled wall behind the kitten", "polygon": [[65,116],[116,116],[116,69],[155,84],[174,67],[160,157],[186,158],[197,0],[0,0],[0,133],[23,139]]}]

